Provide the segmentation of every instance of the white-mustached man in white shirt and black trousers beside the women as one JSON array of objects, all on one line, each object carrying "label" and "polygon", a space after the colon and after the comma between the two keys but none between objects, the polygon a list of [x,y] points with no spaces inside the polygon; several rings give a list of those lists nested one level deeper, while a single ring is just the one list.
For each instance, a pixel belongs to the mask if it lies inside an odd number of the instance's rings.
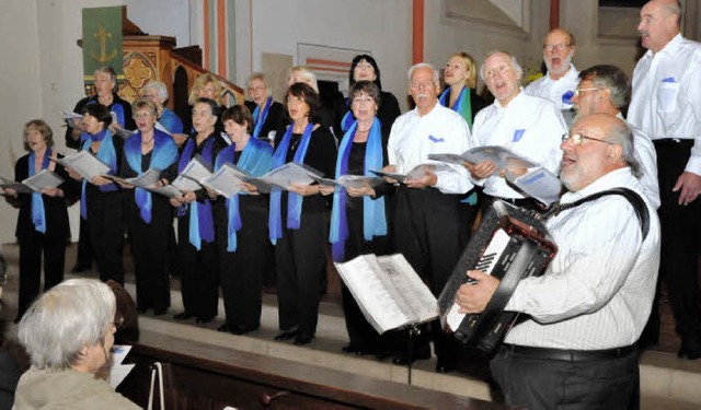
[{"label": "white-mustached man in white shirt and black trousers beside the women", "polygon": [[[438,104],[438,71],[418,63],[409,70],[411,93],[416,107],[400,116],[392,125],[387,144],[389,164],[384,169],[407,174],[395,194],[393,212],[394,250],[404,255],[414,270],[428,283],[434,294],[440,293],[467,244],[469,230],[460,195],[472,189],[464,167],[441,165],[428,160],[428,154],[461,154],[470,148],[470,130],[456,112]],[[422,169],[422,167],[420,167]],[[453,362],[443,353],[446,340],[438,326],[436,335],[437,370],[445,372]],[[448,339],[449,340],[449,339]],[[426,340],[420,340],[414,358],[398,356],[395,363],[424,359],[430,354]],[[448,348],[446,348],[448,349]],[[428,354],[426,354],[428,353]]]}]

